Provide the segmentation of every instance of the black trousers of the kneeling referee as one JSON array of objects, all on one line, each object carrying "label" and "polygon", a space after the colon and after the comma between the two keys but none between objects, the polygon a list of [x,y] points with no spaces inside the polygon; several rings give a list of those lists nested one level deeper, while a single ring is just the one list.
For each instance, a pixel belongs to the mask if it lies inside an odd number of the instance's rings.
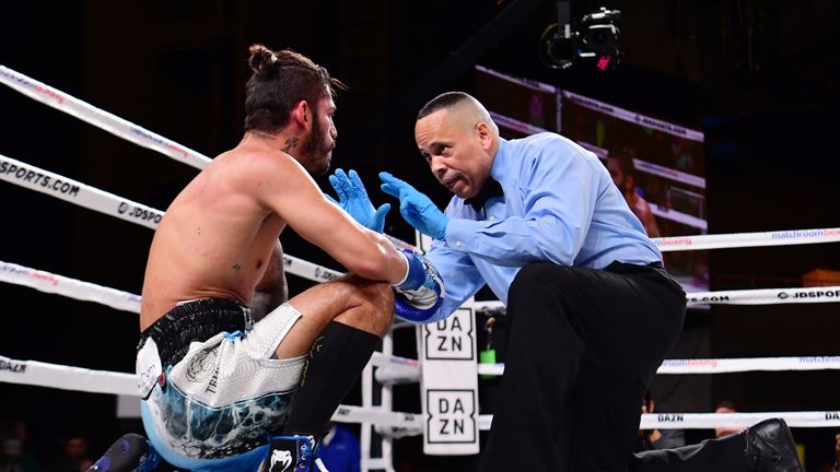
[{"label": "black trousers of the kneeling referee", "polygon": [[505,370],[479,470],[630,470],[644,393],[685,307],[661,269],[523,268],[508,294]]}]

